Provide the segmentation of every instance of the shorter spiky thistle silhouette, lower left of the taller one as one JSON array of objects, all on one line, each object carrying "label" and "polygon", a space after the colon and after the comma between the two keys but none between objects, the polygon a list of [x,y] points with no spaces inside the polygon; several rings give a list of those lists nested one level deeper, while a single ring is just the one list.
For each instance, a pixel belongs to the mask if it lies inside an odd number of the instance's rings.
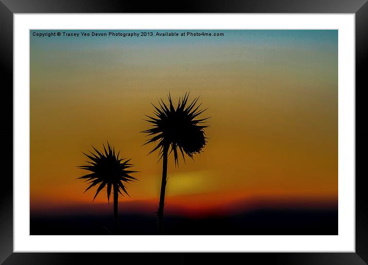
[{"label": "shorter spiky thistle silhouette, lower left of the taller one", "polygon": [[120,151],[115,154],[115,148],[111,147],[107,142],[107,150],[105,145],[103,145],[104,151],[100,152],[96,148],[92,147],[96,153],[92,153],[89,151],[91,155],[83,153],[87,156],[90,161],[86,161],[89,165],[87,166],[78,166],[79,169],[88,170],[92,173],[87,175],[78,177],[77,179],[86,179],[85,182],[89,184],[88,188],[84,191],[88,191],[92,187],[97,187],[97,191],[93,200],[96,199],[99,192],[107,186],[107,202],[109,203],[111,189],[113,188],[114,195],[114,221],[115,221],[115,230],[116,233],[119,232],[119,216],[118,216],[118,197],[119,194],[124,196],[121,191],[123,191],[126,195],[129,194],[126,192],[126,187],[123,182],[130,182],[137,180],[135,177],[132,177],[130,174],[138,171],[129,170],[133,167],[132,164],[129,163],[131,159],[120,158]]}]

